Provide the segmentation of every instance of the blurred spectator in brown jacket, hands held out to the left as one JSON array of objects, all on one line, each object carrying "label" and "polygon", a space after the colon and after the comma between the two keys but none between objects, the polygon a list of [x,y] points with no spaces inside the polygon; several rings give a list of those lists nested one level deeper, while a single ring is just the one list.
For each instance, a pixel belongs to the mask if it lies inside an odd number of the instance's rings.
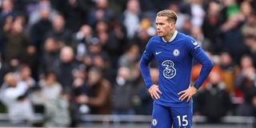
[{"label": "blurred spectator in brown jacket, hands held out to the left", "polygon": [[92,67],[89,70],[87,85],[90,94],[80,95],[77,102],[88,105],[90,114],[110,114],[110,82],[102,77],[100,69]]}]

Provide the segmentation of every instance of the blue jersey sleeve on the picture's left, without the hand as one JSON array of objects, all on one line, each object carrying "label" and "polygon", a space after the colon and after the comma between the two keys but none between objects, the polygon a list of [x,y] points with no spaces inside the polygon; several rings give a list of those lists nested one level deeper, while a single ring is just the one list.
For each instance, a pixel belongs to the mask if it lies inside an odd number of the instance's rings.
[{"label": "blue jersey sleeve on the picture's left, without the hand", "polygon": [[140,60],[140,70],[142,73],[142,77],[144,79],[144,82],[146,84],[146,87],[149,89],[150,86],[153,86],[153,82],[150,78],[150,68],[149,68],[149,63],[154,58],[154,53],[152,50],[152,39],[147,43],[146,45],[146,50],[142,54],[142,58]]}]

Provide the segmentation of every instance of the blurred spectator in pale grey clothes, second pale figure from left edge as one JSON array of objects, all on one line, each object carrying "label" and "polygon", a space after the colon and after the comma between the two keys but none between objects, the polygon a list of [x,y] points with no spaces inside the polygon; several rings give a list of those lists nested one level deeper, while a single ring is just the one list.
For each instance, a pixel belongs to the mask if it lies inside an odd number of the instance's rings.
[{"label": "blurred spectator in pale grey clothes, second pale figure from left edge", "polygon": [[57,82],[56,74],[47,73],[39,82],[39,86],[41,87],[39,98],[45,108],[44,126],[68,126],[70,124],[69,103],[62,96],[62,86]]}]

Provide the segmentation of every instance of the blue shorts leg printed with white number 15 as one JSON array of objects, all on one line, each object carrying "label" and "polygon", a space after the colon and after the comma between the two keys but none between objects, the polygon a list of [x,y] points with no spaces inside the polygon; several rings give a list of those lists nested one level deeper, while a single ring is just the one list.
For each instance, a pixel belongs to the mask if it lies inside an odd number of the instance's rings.
[{"label": "blue shorts leg printed with white number 15", "polygon": [[191,128],[192,127],[192,108],[171,108],[171,114],[174,120],[174,128]]}]

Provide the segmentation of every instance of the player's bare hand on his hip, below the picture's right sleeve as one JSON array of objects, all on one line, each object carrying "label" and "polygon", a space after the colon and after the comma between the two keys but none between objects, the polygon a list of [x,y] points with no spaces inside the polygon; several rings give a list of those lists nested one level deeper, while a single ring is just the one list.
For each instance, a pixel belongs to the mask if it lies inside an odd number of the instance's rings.
[{"label": "player's bare hand on his hip, below the picture's right sleeve", "polygon": [[192,98],[192,96],[194,94],[197,93],[197,89],[194,86],[189,86],[188,89],[186,90],[182,90],[181,92],[178,93],[178,95],[182,94],[182,96],[180,96],[178,99],[183,101],[184,99],[186,99],[186,102],[190,102],[190,98]]}]

